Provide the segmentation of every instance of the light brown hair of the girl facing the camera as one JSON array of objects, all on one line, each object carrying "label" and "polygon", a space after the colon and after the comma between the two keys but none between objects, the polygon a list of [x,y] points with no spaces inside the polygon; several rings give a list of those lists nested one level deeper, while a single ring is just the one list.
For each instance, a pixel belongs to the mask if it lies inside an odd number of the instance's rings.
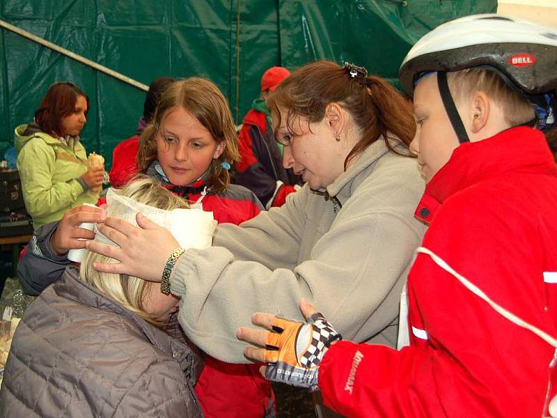
[{"label": "light brown hair of the girl facing the camera", "polygon": [[212,192],[224,192],[230,184],[228,170],[221,162],[233,165],[240,159],[236,127],[228,102],[219,88],[207,79],[190,77],[168,86],[162,93],[152,123],[143,130],[141,144],[136,157],[140,171],[145,172],[157,160],[157,127],[164,125],[164,118],[175,107],[182,107],[196,118],[211,133],[217,143],[224,141],[223,153],[210,167],[207,187]]}]

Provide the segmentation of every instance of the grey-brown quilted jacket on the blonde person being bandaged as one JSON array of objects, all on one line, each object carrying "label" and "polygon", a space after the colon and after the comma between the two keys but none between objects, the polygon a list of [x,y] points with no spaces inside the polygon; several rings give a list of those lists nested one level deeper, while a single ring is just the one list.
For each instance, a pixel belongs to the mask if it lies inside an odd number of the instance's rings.
[{"label": "grey-brown quilted jacket on the blonde person being bandaged", "polygon": [[193,390],[202,368],[183,336],[123,309],[70,266],[17,328],[0,417],[202,417]]}]

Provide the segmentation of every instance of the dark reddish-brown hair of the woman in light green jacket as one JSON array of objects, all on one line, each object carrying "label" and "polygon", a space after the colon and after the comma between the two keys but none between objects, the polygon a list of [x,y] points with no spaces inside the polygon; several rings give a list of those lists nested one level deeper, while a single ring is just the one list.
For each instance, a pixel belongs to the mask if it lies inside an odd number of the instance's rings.
[{"label": "dark reddish-brown hair of the woman in light green jacket", "polygon": [[35,122],[40,130],[53,137],[61,135],[62,118],[75,113],[75,103],[79,96],[83,96],[87,102],[87,114],[89,98],[78,86],[70,82],[52,84],[35,112]]}]

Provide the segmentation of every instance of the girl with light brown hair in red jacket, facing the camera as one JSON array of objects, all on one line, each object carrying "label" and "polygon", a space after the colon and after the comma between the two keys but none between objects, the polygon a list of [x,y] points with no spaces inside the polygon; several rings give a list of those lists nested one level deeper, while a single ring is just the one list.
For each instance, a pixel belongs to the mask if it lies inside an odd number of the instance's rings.
[{"label": "girl with light brown hair in red jacket, facing the camera", "polygon": [[[219,223],[240,224],[262,206],[249,189],[230,184],[228,170],[238,157],[228,102],[212,82],[191,77],[161,95],[141,136],[136,164],[191,207],[213,212]],[[272,388],[257,366],[208,355],[195,391],[205,417],[264,417],[275,408]]]}]

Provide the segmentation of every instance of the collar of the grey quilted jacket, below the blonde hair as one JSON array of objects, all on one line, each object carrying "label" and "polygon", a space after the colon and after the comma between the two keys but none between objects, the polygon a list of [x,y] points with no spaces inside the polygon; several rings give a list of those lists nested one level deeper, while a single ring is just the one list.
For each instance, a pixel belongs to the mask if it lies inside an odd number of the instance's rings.
[{"label": "collar of the grey quilted jacket, below the blonde hair", "polygon": [[[168,333],[159,330],[159,328],[151,325],[143,318],[122,307],[116,300],[113,300],[108,295],[105,295],[79,279],[79,268],[77,266],[68,266],[61,280],[57,281],[52,286],[52,289],[56,295],[64,297],[65,299],[73,300],[74,302],[95,309],[111,311],[129,320],[131,323],[134,323],[136,328],[153,346],[174,357],[176,361],[180,363],[180,366],[182,366],[182,371],[194,369],[192,370],[191,376],[189,376],[192,382],[195,382],[199,373],[201,373],[201,361],[192,358],[194,352],[184,341],[180,341],[177,335],[177,333],[180,332],[178,327],[175,327],[175,329],[171,327]],[[171,334],[175,335],[175,337]]]}]

